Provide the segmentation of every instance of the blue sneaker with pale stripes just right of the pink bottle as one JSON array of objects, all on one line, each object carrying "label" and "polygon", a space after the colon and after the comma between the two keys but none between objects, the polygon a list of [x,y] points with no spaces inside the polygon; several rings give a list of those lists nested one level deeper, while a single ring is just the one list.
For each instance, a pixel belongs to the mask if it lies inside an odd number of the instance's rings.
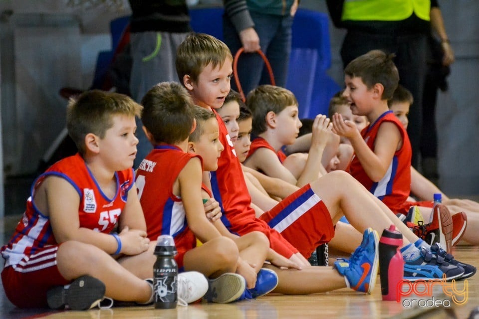
[{"label": "blue sneaker with pale stripes just right of the pink bottle", "polygon": [[409,281],[442,279],[453,280],[464,274],[464,268],[445,261],[444,257],[435,255],[431,249],[421,247],[420,255],[414,260],[406,260],[404,264],[404,279]]}]

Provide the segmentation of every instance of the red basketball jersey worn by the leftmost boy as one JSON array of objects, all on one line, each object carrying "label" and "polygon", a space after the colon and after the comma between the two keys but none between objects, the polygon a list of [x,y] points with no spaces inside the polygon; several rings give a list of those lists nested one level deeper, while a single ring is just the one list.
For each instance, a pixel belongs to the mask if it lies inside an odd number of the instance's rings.
[{"label": "red basketball jersey worn by the leftmost boy", "polygon": [[66,179],[77,191],[80,198],[79,226],[102,233],[110,233],[115,227],[134,182],[132,168],[115,172],[116,192],[108,198],[79,154],[57,161],[33,182],[26,210],[9,243],[1,248],[5,267],[16,265],[23,256],[35,253],[37,248],[57,244],[50,218],[42,214],[32,201],[35,191],[48,176]]}]

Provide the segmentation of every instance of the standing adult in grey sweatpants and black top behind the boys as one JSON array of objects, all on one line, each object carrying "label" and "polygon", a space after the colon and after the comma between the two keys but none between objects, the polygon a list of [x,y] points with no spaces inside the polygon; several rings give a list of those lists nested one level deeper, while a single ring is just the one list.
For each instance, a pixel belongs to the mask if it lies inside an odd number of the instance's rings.
[{"label": "standing adult in grey sweatpants and black top behind the boys", "polygon": [[[185,0],[128,2],[132,10],[130,92],[132,98],[140,102],[155,84],[179,81],[175,68],[176,49],[192,29]],[[152,149],[138,120],[137,126],[139,143],[135,168]]]}]

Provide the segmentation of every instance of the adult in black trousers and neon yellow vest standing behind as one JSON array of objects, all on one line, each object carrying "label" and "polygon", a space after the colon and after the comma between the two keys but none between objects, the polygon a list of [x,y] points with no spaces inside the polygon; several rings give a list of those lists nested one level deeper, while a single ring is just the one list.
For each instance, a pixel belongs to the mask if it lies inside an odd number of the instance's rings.
[{"label": "adult in black trousers and neon yellow vest standing behind", "polygon": [[408,135],[411,162],[418,167],[431,0],[327,0],[327,5],[335,25],[347,29],[341,47],[343,66],[372,49],[396,54],[399,82],[414,97]]}]

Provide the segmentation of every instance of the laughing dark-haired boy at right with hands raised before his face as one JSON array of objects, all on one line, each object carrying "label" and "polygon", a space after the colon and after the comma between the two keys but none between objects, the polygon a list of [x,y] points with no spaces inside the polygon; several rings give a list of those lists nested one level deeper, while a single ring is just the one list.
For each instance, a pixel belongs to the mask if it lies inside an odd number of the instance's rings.
[{"label": "laughing dark-haired boy at right with hands raised before his face", "polygon": [[[412,151],[406,130],[388,109],[387,100],[393,96],[399,81],[393,57],[392,54],[373,50],[346,66],[343,96],[348,99],[352,113],[367,116],[370,125],[360,133],[354,123],[344,121],[341,115],[335,114],[333,132],[351,141],[355,151],[349,165],[352,176],[396,213],[400,212],[410,193]],[[431,224],[430,231],[439,230],[445,248],[450,251],[452,220],[447,207],[440,205],[435,209]],[[421,250],[429,247],[422,239],[413,243]],[[412,270],[414,267],[411,266],[422,257],[428,258],[427,253],[424,256],[408,256],[405,271]],[[440,263],[443,259],[438,256],[439,269],[444,265]],[[408,261],[412,264],[408,265]],[[464,274],[459,262],[450,261],[451,266],[458,265]]]}]

